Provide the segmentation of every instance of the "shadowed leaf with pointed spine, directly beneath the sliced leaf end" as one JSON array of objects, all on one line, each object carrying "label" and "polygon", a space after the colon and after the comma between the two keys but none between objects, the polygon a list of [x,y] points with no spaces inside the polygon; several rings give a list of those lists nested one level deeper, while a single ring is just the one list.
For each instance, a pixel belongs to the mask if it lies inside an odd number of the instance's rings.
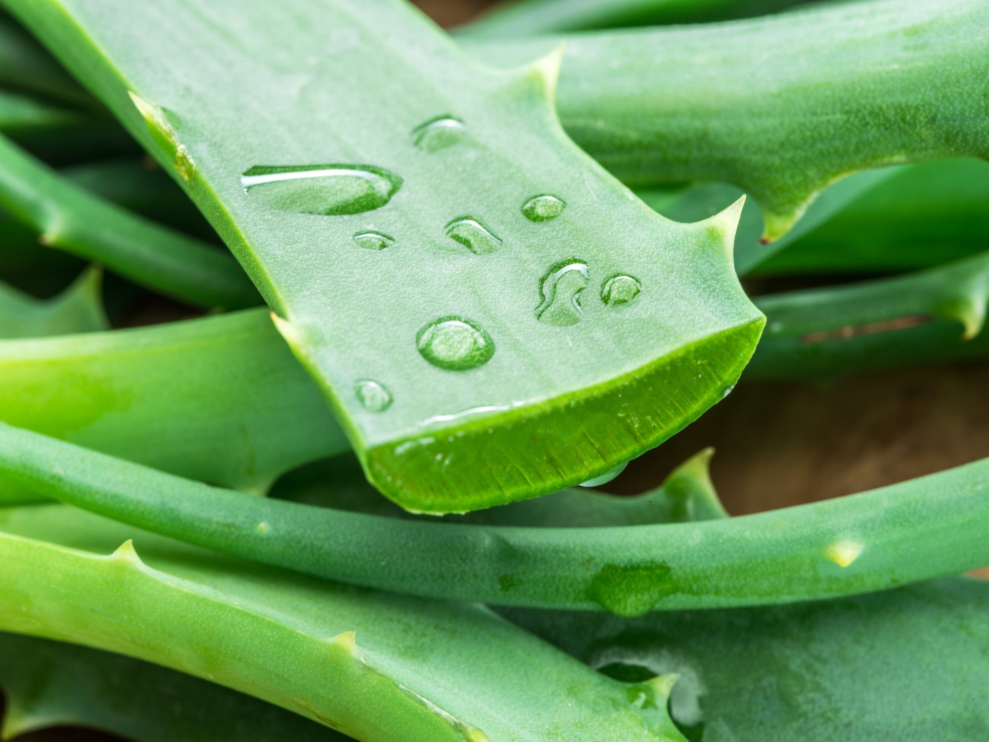
[{"label": "shadowed leaf with pointed spine, directly beneath the sliced leaf end", "polygon": [[[474,525],[553,528],[679,523],[725,517],[727,513],[708,473],[712,454],[713,449],[708,448],[692,456],[674,469],[660,487],[635,497],[575,487],[488,510],[448,514],[443,519]],[[377,497],[360,470],[345,456],[290,472],[278,481],[271,497],[319,508],[409,519],[432,518],[407,512]]]}]

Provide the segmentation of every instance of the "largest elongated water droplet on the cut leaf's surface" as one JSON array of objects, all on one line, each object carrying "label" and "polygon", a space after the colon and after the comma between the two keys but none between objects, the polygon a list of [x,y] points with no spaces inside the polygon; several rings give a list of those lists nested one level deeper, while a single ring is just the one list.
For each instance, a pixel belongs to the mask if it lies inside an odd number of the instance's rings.
[{"label": "largest elongated water droplet on the cut leaf's surface", "polygon": [[402,178],[370,165],[255,165],[240,184],[272,209],[337,216],[380,209],[402,187]]}]

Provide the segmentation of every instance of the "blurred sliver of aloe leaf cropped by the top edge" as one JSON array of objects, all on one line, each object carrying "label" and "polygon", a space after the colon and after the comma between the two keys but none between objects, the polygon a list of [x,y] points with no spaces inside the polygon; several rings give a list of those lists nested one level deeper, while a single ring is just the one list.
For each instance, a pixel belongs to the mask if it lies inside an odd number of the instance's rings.
[{"label": "blurred sliver of aloe leaf cropped by the top edge", "polygon": [[469,37],[518,39],[619,26],[706,23],[774,13],[799,0],[507,0],[457,29]]}]

